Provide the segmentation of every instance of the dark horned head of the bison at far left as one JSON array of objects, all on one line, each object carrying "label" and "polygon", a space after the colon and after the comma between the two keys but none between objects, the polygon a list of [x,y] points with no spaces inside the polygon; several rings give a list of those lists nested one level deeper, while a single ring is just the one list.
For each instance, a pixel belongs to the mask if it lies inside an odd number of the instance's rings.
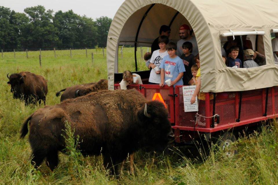
[{"label": "dark horned head of the bison at far left", "polygon": [[11,85],[11,92],[13,93],[13,97],[21,98],[22,93],[23,93],[22,84],[24,83],[24,78],[26,76],[25,75],[22,76],[19,73],[14,73],[9,76],[9,73],[8,73],[7,77],[9,79],[9,81],[7,83]]}]

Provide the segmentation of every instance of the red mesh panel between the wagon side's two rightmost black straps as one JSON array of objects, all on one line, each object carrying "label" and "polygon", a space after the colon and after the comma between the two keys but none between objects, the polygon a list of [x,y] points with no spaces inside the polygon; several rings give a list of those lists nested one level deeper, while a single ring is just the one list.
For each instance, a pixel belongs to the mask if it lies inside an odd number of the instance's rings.
[{"label": "red mesh panel between the wagon side's two rightmost black straps", "polygon": [[241,121],[263,116],[263,90],[256,89],[242,92]]}]

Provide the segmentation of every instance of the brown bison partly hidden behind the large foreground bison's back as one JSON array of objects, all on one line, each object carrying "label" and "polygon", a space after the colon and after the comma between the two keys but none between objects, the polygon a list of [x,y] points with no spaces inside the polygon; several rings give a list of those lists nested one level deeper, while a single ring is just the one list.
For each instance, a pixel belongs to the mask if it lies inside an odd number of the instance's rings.
[{"label": "brown bison partly hidden behind the large foreground bison's back", "polygon": [[98,82],[89,83],[89,84],[81,84],[75,85],[71,87],[67,87],[62,89],[56,93],[58,97],[62,91],[65,91],[60,101],[64,101],[65,99],[76,98],[79,96],[84,96],[90,92],[96,92],[98,90],[107,90],[108,89],[108,81],[106,79],[100,79]]}]

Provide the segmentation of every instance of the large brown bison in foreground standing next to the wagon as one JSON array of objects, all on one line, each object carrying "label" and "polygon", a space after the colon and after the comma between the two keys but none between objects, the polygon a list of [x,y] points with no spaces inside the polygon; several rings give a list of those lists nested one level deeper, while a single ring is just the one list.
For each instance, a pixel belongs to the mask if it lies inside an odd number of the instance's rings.
[{"label": "large brown bison in foreground standing next to the wagon", "polygon": [[[173,140],[167,110],[159,101],[148,101],[137,90],[103,90],[68,99],[61,104],[36,110],[23,123],[21,138],[28,133],[32,164],[58,165],[58,151],[65,148],[65,121],[79,135],[83,154],[103,154],[103,164],[118,174],[118,166],[141,148],[159,150]],[[115,171],[114,171],[115,169]]]}]

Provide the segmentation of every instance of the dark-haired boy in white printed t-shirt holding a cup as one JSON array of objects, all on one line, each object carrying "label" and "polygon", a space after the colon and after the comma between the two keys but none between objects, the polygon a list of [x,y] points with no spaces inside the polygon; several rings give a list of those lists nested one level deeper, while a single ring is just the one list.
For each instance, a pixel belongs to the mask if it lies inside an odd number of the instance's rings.
[{"label": "dark-haired boy in white printed t-shirt holding a cup", "polygon": [[[150,77],[149,77],[149,84],[160,84],[160,63],[168,52],[166,50],[166,45],[168,44],[169,39],[167,36],[162,35],[158,38],[158,46],[159,50],[155,50],[151,55],[150,66],[152,68]],[[155,70],[155,68],[158,70]]]}]

